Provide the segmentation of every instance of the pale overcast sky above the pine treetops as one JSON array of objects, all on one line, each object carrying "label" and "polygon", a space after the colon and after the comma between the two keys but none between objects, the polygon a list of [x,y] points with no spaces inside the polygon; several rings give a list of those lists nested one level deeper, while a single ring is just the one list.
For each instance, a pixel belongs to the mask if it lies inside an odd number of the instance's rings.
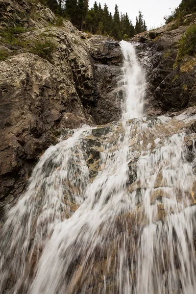
[{"label": "pale overcast sky above the pine treetops", "polygon": [[[89,1],[90,8],[94,2],[95,0]],[[117,4],[120,13],[128,13],[133,25],[135,25],[138,11],[141,10],[149,29],[163,25],[163,17],[171,14],[171,11],[180,4],[181,0],[97,0],[97,2],[100,2],[102,7],[106,3],[112,14],[114,14],[114,7]]]}]

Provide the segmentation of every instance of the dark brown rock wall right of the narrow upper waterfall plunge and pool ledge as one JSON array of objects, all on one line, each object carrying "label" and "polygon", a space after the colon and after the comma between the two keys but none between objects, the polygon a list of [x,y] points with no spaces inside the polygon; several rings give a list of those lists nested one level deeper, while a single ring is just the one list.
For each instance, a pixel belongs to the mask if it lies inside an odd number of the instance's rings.
[{"label": "dark brown rock wall right of the narrow upper waterfall plunge and pool ledge", "polygon": [[164,114],[196,105],[196,60],[186,56],[176,65],[178,44],[196,14],[132,38],[147,72],[147,114]]}]

